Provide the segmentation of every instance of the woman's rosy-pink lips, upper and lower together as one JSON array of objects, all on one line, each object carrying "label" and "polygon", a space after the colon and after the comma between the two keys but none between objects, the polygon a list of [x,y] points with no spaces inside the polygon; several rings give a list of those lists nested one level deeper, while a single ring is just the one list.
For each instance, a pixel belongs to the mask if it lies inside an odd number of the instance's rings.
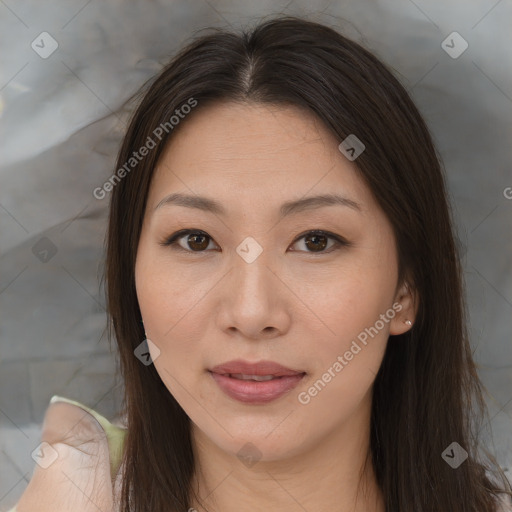
[{"label": "woman's rosy-pink lips, upper and lower together", "polygon": [[[240,359],[217,365],[208,370],[220,389],[229,397],[245,404],[265,404],[277,400],[292,390],[306,375],[272,361],[249,363]],[[230,373],[244,375],[273,375],[268,381],[240,380],[230,377]]]}]

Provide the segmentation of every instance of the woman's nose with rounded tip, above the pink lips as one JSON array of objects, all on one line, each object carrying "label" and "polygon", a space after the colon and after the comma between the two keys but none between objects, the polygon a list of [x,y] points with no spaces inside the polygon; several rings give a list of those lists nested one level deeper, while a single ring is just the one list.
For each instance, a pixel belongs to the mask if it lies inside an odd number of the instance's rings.
[{"label": "woman's nose with rounded tip, above the pink lips", "polygon": [[219,327],[231,334],[258,340],[283,335],[290,325],[290,293],[271,268],[264,250],[248,263],[235,253],[223,279]]}]

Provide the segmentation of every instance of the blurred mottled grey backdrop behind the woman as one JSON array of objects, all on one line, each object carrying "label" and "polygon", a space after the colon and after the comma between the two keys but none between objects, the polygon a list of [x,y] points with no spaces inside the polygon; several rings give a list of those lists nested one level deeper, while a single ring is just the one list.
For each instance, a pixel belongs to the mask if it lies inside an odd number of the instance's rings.
[{"label": "blurred mottled grey backdrop behind the woman", "polygon": [[[464,248],[483,435],[512,468],[512,0],[0,0],[0,510],[30,479],[53,394],[110,419],[120,404],[100,287],[108,199],[92,191],[114,170],[121,105],[195,30],[279,12],[361,42],[425,116]],[[442,47],[454,31],[469,45],[457,58]],[[58,42],[48,58],[31,47],[42,32]]]}]

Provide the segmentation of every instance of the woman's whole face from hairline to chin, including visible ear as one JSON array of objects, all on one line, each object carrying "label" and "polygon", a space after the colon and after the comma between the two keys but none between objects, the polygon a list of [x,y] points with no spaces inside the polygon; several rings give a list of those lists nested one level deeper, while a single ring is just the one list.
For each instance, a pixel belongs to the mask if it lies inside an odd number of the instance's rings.
[{"label": "woman's whole face from hairline to chin, including visible ear", "polygon": [[[155,169],[135,268],[144,327],[194,434],[224,453],[277,460],[358,435],[388,336],[414,319],[391,225],[340,142],[294,108],[216,104]],[[162,204],[171,194],[190,199]],[[346,200],[283,206],[329,194]],[[214,378],[240,359],[298,373]]]}]

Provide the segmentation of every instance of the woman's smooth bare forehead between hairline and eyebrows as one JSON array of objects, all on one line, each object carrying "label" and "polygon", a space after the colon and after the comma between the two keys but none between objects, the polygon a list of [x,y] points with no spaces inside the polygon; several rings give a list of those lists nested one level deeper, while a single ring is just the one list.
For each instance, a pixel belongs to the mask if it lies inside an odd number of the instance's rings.
[{"label": "woman's smooth bare forehead between hairline and eyebrows", "polygon": [[339,193],[372,202],[354,162],[312,113],[267,104],[197,107],[179,126],[155,169],[148,205],[182,191],[225,203],[269,206]]}]

